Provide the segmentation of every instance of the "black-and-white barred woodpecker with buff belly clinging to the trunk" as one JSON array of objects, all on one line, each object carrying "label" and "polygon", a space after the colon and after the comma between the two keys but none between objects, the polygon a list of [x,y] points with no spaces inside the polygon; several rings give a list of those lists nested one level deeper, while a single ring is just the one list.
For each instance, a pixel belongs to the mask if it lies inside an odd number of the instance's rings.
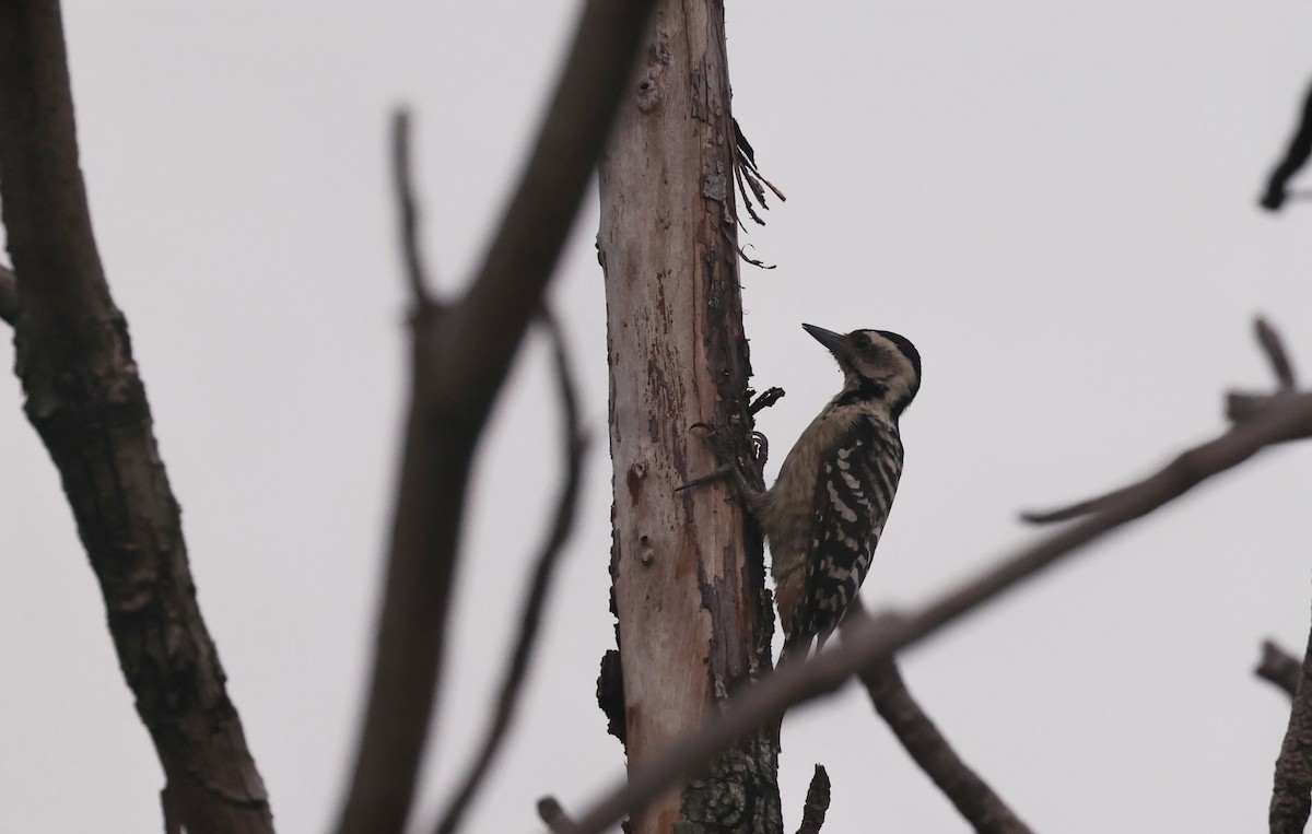
[{"label": "black-and-white barred woodpecker with buff belly clinging to the trunk", "polygon": [[920,389],[920,353],[888,330],[807,333],[842,370],[768,490],[735,479],[770,543],[785,656],[824,645],[870,569],[901,477],[897,420]]}]

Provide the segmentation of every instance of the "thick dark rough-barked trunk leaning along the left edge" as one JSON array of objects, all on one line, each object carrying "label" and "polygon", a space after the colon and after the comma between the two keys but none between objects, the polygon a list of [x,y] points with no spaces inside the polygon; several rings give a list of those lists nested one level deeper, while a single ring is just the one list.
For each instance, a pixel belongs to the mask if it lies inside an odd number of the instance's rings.
[{"label": "thick dark rough-barked trunk leaning along the left edge", "polygon": [[59,468],[123,677],[164,766],[165,827],[272,834],[92,236],[55,0],[0,1],[0,203],[28,418]]}]

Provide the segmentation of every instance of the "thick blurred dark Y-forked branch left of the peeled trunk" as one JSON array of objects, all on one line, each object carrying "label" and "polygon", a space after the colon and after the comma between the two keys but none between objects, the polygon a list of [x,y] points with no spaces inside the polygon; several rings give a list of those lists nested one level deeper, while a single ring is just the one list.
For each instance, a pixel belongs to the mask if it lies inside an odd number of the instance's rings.
[{"label": "thick blurred dark Y-forked branch left of the peeled trunk", "polygon": [[[437,304],[424,298],[417,273],[409,277],[417,296],[409,416],[369,703],[338,834],[391,834],[405,825],[434,711],[474,450],[542,308],[652,5],[585,3],[527,165],[468,291]],[[403,237],[413,216],[408,194],[399,194]]]}]

